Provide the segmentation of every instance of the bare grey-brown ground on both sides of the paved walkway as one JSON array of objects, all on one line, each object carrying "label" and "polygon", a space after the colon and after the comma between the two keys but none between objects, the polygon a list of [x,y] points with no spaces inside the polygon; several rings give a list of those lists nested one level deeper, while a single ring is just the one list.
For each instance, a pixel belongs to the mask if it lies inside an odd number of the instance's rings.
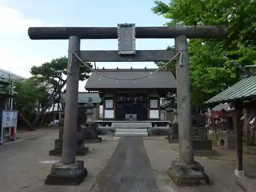
[{"label": "bare grey-brown ground on both sides of the paved walkway", "polygon": [[[90,152],[86,156],[77,157],[83,160],[89,175],[79,186],[48,186],[44,184],[50,173],[51,165],[60,160],[59,157],[48,156],[58,136],[56,129],[20,132],[19,142],[0,145],[0,192],[89,192],[95,178],[109,163],[116,150],[119,138],[102,136],[101,143],[87,144]],[[242,192],[233,176],[236,168],[235,150],[215,148],[220,157],[196,157],[205,166],[205,171],[212,184],[204,187],[177,188],[168,178],[166,171],[170,163],[179,154],[177,144],[169,144],[164,137],[143,138],[145,150],[150,159],[159,191],[200,191],[200,192]],[[253,179],[256,176],[256,157],[245,156],[246,173]],[[128,191],[127,191],[128,192]]]}]

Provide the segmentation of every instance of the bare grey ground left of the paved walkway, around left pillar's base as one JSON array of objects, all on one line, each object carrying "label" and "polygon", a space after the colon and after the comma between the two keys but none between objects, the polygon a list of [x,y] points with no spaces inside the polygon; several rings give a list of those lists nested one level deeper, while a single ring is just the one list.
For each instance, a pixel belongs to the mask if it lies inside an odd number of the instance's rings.
[{"label": "bare grey ground left of the paved walkway, around left pillar's base", "polygon": [[36,130],[19,134],[20,138],[24,138],[23,141],[0,145],[0,191],[87,192],[100,170],[108,164],[119,142],[118,138],[102,136],[101,143],[86,145],[90,152],[77,159],[84,161],[89,174],[79,186],[48,186],[44,181],[50,173],[51,165],[60,160],[59,157],[48,156],[57,136],[56,129]]}]

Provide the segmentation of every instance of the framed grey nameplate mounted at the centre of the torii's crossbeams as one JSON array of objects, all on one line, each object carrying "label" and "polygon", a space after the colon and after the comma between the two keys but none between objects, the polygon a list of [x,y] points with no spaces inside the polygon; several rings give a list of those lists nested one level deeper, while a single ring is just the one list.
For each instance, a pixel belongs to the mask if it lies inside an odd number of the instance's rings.
[{"label": "framed grey nameplate mounted at the centre of the torii's crossbeams", "polygon": [[135,24],[117,25],[118,54],[136,54]]}]

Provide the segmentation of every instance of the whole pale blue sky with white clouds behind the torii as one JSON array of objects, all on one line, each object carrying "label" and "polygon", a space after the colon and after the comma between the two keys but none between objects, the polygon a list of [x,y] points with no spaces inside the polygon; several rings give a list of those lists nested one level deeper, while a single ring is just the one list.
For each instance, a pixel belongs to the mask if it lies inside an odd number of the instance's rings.
[{"label": "whole pale blue sky with white clouds behind the torii", "polygon": [[[163,1],[165,2],[165,1]],[[67,55],[67,40],[30,40],[28,27],[162,26],[152,0],[0,0],[0,68],[29,77],[30,68]],[[137,50],[165,49],[173,39],[137,39]],[[81,50],[117,50],[117,40],[82,40]],[[154,62],[97,62],[99,68],[156,68]],[[84,91],[80,82],[79,91]]]}]

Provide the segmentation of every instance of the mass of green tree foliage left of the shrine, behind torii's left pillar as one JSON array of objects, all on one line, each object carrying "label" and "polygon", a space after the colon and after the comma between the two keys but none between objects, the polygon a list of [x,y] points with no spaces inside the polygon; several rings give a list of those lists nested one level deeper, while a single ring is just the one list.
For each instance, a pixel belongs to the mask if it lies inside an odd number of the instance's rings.
[{"label": "mass of green tree foliage left of the shrine, behind torii's left pillar", "polygon": [[[86,64],[92,67],[91,63]],[[66,84],[67,66],[68,58],[60,57],[42,63],[40,66],[33,66],[30,71],[32,76],[26,80],[10,79],[9,82],[13,81],[16,92],[13,109],[18,110],[29,121],[34,120],[35,114],[39,112],[39,114],[44,114],[45,110],[51,106],[48,100],[54,93],[56,93],[55,97],[52,97],[51,101],[57,99],[57,89],[61,91]],[[79,80],[89,77],[90,69],[84,63],[80,63],[79,71]],[[1,91],[8,93],[9,86],[2,87]]]}]

